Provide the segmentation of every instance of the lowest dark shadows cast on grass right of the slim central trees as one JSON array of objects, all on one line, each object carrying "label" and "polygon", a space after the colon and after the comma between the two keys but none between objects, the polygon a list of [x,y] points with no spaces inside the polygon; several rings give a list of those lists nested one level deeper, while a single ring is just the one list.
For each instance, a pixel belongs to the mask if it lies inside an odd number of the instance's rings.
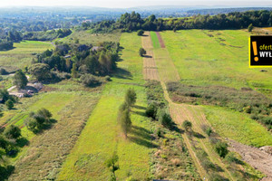
[{"label": "lowest dark shadows cast on grass right of the slim central trees", "polygon": [[128,137],[132,142],[146,148],[157,148],[158,145],[151,142],[151,131],[138,126],[131,127],[131,136]]}]

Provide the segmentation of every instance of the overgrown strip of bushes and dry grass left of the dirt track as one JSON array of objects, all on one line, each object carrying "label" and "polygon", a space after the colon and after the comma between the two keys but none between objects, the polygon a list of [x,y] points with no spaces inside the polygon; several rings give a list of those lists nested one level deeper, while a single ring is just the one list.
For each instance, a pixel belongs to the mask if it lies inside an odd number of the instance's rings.
[{"label": "overgrown strip of bushes and dry grass left of the dirt track", "polygon": [[183,143],[180,130],[173,129],[160,81],[147,81],[148,107],[146,116],[153,120],[153,137],[160,148],[151,155],[151,174],[154,179],[198,180],[188,149]]}]

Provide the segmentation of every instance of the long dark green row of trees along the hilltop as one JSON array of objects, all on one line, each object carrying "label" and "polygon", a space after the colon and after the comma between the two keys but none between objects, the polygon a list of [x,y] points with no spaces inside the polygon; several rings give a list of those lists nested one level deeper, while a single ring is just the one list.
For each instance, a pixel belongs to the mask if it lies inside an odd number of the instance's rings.
[{"label": "long dark green row of trees along the hilltop", "polygon": [[[96,31],[106,29],[121,29],[124,32],[137,30],[162,31],[162,30],[181,30],[181,29],[240,29],[247,28],[249,24],[253,26],[271,26],[272,11],[248,11],[234,12],[216,15],[193,15],[185,18],[157,19],[154,14],[142,19],[141,15],[135,12],[131,14],[121,14],[116,22],[105,21],[90,24],[89,28]],[[86,26],[86,24],[84,24]],[[86,28],[86,27],[85,27]]]}]

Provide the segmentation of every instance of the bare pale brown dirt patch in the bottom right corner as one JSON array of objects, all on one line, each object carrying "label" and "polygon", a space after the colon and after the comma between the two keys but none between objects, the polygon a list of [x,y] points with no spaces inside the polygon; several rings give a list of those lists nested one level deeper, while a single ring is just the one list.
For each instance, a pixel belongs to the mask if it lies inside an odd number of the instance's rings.
[{"label": "bare pale brown dirt patch in the bottom right corner", "polygon": [[238,143],[235,140],[228,139],[228,144],[231,150],[238,152],[238,154],[251,167],[257,168],[259,171],[267,175],[262,180],[272,180],[272,155],[259,148],[250,147]]}]

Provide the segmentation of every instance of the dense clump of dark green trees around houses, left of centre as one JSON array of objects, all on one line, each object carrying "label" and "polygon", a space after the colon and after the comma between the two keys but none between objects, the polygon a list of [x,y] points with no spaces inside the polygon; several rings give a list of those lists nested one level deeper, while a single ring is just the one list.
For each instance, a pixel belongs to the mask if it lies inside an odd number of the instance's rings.
[{"label": "dense clump of dark green trees around houses, left of centre", "polygon": [[[92,44],[60,43],[55,50],[47,50],[36,55],[37,61],[29,72],[38,81],[59,81],[78,78],[85,86],[97,86],[102,83],[96,76],[112,74],[116,70],[119,58],[119,43]],[[91,75],[92,74],[92,75]]]}]

